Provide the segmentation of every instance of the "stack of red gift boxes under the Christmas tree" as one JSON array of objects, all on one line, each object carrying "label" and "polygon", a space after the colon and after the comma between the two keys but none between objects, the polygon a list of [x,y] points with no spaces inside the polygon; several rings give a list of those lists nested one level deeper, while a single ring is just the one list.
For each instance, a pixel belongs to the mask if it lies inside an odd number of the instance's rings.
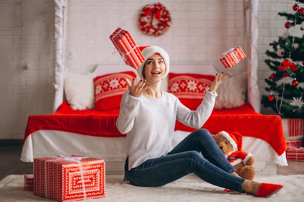
[{"label": "stack of red gift boxes under the Christmas tree", "polygon": [[303,119],[287,119],[286,138],[287,161],[304,161]]}]

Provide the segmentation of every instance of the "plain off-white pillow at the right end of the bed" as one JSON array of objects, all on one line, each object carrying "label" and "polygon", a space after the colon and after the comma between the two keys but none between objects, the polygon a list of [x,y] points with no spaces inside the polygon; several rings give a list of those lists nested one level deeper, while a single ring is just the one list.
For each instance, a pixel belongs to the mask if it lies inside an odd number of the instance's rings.
[{"label": "plain off-white pillow at the right end of the bed", "polygon": [[232,109],[245,104],[247,74],[231,76],[220,83],[215,102],[216,109]]}]

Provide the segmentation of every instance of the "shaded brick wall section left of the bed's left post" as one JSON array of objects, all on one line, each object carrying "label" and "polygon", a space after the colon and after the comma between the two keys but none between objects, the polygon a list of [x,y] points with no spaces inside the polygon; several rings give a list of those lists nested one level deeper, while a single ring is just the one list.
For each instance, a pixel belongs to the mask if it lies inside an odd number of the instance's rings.
[{"label": "shaded brick wall section left of the bed's left post", "polygon": [[0,0],[0,139],[23,139],[30,114],[50,113],[52,0]]}]

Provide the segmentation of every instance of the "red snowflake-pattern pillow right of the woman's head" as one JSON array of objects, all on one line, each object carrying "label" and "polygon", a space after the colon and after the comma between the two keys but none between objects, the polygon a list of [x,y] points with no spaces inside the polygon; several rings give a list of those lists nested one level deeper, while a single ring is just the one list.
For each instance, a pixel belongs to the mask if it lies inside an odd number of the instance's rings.
[{"label": "red snowflake-pattern pillow right of the woman's head", "polygon": [[174,94],[187,108],[196,110],[215,76],[169,73],[169,93]]}]

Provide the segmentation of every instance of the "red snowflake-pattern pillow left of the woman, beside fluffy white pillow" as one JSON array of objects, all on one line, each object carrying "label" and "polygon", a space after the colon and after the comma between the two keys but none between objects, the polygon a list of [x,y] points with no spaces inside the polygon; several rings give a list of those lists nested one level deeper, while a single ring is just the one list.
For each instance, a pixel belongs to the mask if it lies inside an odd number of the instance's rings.
[{"label": "red snowflake-pattern pillow left of the woman, beside fluffy white pillow", "polygon": [[106,111],[120,108],[122,95],[128,90],[126,78],[132,81],[136,75],[132,71],[126,71],[94,78],[96,110]]}]

